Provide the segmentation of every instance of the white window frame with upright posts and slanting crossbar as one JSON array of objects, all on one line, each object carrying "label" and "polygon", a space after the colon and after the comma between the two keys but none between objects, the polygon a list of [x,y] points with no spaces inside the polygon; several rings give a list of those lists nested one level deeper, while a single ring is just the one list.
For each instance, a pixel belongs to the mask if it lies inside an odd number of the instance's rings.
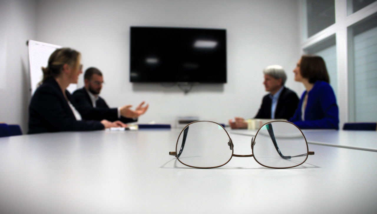
[{"label": "white window frame with upright posts and slanting crossbar", "polygon": [[[300,0],[300,32],[301,45],[300,53],[305,54],[305,50],[323,42],[331,36],[336,36],[336,60],[337,60],[337,91],[340,127],[346,122],[353,122],[354,115],[354,91],[350,82],[353,76],[353,50],[352,41],[350,43],[351,29],[354,24],[359,23],[374,14],[377,14],[377,1],[371,3],[365,8],[360,9],[350,15],[347,8],[348,0],[335,0],[335,23],[326,27],[313,36],[307,37],[307,11],[306,0]],[[350,48],[351,47],[351,48]]]}]

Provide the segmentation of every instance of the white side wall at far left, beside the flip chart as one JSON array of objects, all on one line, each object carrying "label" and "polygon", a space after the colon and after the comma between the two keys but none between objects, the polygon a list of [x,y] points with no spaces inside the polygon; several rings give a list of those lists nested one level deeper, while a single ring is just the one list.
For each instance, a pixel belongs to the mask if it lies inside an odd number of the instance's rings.
[{"label": "white side wall at far left, beside the flip chart", "polygon": [[36,36],[36,2],[2,0],[0,6],[0,52],[5,53],[0,61],[0,122],[20,124],[26,133],[30,100],[26,41]]}]

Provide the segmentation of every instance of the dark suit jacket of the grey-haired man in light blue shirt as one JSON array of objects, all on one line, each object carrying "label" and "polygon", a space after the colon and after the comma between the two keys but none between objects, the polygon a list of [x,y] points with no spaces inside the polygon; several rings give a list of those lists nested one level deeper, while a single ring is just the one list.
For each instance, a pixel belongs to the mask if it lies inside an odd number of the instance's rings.
[{"label": "dark suit jacket of the grey-haired man in light blue shirt", "polygon": [[[296,111],[299,103],[299,97],[297,94],[289,88],[283,88],[277,100],[275,119],[287,119],[289,120]],[[255,118],[259,119],[271,119],[271,105],[272,100],[270,94],[263,97],[261,108]]]}]

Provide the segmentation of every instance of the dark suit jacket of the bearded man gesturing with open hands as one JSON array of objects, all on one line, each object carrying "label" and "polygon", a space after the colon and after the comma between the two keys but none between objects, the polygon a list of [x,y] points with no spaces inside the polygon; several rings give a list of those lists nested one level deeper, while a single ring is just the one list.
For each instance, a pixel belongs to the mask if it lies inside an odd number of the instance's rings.
[{"label": "dark suit jacket of the bearded man gesturing with open hands", "polygon": [[80,88],[76,90],[72,96],[77,103],[77,111],[80,112],[81,117],[86,120],[109,120],[116,121],[120,120],[123,123],[135,122],[132,118],[121,117],[118,118],[118,108],[109,108],[105,100],[98,96],[96,101],[96,107],[93,107],[92,100],[85,88]]}]

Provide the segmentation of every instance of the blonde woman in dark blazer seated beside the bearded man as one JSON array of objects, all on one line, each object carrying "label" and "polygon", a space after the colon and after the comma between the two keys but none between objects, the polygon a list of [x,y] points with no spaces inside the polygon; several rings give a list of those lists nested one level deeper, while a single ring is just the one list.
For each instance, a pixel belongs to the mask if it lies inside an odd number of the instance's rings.
[{"label": "blonde woman in dark blazer seated beside the bearded man", "polygon": [[82,120],[74,99],[66,90],[70,83],[77,83],[83,73],[80,58],[79,52],[69,48],[57,49],[51,54],[48,66],[42,68],[41,85],[30,102],[28,134],[102,130],[124,125],[120,121]]}]

